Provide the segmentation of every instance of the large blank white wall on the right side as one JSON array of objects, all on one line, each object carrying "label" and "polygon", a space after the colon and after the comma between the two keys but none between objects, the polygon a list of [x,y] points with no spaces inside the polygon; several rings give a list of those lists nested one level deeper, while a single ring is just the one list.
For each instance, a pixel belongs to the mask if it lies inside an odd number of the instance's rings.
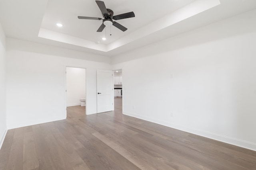
[{"label": "large blank white wall on the right side", "polygon": [[112,64],[122,68],[124,114],[256,150],[256,10]]}]

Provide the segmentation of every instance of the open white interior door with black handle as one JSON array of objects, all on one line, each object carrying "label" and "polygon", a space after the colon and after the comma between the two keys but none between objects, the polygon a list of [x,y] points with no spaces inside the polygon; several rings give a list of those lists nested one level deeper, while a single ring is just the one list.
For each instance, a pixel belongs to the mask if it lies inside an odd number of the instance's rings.
[{"label": "open white interior door with black handle", "polygon": [[97,113],[114,110],[112,70],[97,70]]}]

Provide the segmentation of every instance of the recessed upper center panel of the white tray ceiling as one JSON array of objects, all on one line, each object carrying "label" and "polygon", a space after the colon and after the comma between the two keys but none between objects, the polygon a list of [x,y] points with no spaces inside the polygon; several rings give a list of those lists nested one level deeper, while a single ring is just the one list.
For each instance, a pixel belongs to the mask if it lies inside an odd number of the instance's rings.
[{"label": "recessed upper center panel of the white tray ceiling", "polygon": [[[114,11],[114,16],[131,11],[136,16],[116,21],[127,27],[128,30],[123,32],[112,26],[112,35],[110,36],[110,27],[106,27],[101,33],[96,32],[102,24],[102,20],[79,20],[77,18],[77,16],[103,18],[94,0],[48,0],[41,27],[108,45],[193,1],[195,0],[158,0],[148,3],[148,0],[104,0],[106,8]],[[64,26],[57,27],[56,22],[60,22]],[[105,30],[107,40],[103,41]]]}]

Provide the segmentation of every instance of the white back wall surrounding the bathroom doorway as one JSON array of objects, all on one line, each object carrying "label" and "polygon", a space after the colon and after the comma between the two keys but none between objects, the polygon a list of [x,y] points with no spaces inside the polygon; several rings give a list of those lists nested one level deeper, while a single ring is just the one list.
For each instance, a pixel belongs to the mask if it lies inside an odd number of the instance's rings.
[{"label": "white back wall surrounding the bathroom doorway", "polygon": [[110,58],[7,38],[8,129],[66,118],[65,65],[86,68],[87,114],[96,113],[96,70]]}]

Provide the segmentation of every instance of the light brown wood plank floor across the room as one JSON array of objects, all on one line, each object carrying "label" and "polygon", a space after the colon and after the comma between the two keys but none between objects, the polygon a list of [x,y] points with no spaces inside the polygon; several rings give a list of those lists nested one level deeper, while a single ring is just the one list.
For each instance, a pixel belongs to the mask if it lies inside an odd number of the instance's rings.
[{"label": "light brown wood plank floor across the room", "polygon": [[1,170],[256,170],[256,152],[115,111],[8,130]]}]

